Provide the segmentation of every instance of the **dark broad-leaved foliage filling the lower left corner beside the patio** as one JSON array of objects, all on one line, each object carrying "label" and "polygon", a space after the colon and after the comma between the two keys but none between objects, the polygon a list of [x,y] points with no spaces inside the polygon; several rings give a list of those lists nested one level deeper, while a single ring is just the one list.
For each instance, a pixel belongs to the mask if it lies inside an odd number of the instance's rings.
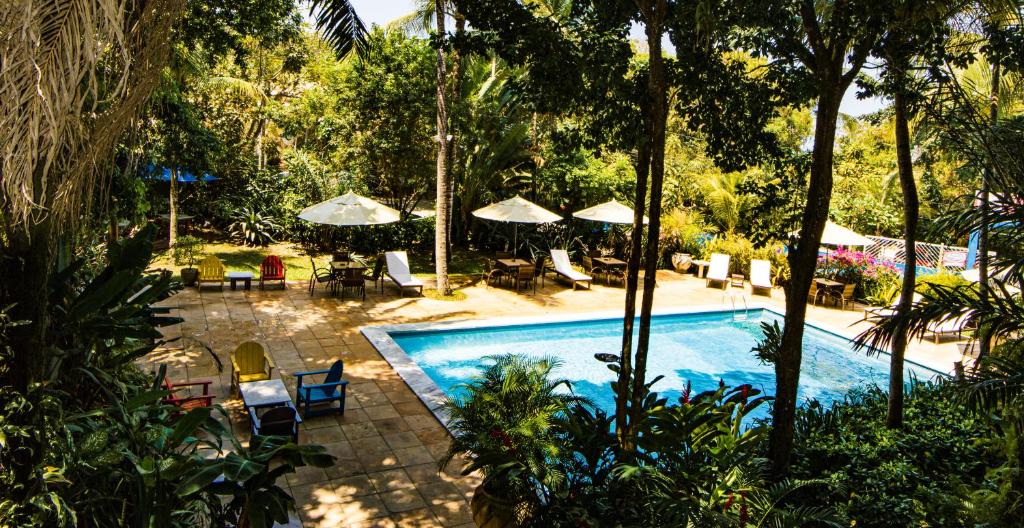
[{"label": "dark broad-leaved foliage filling the lower left corner beside the patio", "polygon": [[[241,516],[283,521],[287,494],[273,484],[304,464],[327,463],[323,449],[254,439],[246,451],[213,408],[182,411],[161,400],[163,367],[144,376],[135,361],[161,343],[158,326],[180,322],[154,304],[176,288],[170,273],[145,275],[156,229],[108,248],[108,264],[83,260],[52,276],[49,348],[32,351],[44,378],[20,393],[0,389],[0,525],[191,527],[239,525]],[[13,325],[0,312],[0,357],[13,350]],[[234,452],[219,458],[219,439]],[[264,448],[270,446],[270,448]],[[281,465],[248,465],[245,501],[216,494],[243,482],[226,472],[239,456],[283,455]],[[210,468],[217,467],[216,475]],[[225,483],[213,483],[220,474]],[[250,486],[249,484],[254,485]]]}]

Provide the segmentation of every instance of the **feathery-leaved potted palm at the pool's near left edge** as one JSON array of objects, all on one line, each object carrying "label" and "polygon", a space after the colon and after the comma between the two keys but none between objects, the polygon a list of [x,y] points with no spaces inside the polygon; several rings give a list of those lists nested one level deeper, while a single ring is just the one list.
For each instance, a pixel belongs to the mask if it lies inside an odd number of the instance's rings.
[{"label": "feathery-leaved potted palm at the pool's near left edge", "polygon": [[566,452],[557,424],[586,398],[567,380],[550,377],[555,359],[517,355],[492,358],[463,394],[444,404],[453,441],[438,464],[466,459],[463,475],[480,471],[483,482],[470,500],[473,521],[484,528],[526,526],[537,507],[564,480],[553,457]]}]

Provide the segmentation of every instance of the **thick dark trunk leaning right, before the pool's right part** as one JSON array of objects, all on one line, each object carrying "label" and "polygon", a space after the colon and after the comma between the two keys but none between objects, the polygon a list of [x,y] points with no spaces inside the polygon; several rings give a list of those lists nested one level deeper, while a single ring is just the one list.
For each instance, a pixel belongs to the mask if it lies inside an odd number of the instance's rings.
[{"label": "thick dark trunk leaning right, before the pool's right part", "polygon": [[[836,70],[842,71],[841,64],[837,65]],[[779,357],[775,362],[775,403],[772,407],[772,429],[768,447],[772,471],[779,476],[788,468],[790,455],[793,452],[807,297],[817,266],[821,232],[828,220],[833,187],[833,156],[836,149],[836,120],[839,118],[839,105],[845,91],[845,86],[831,83],[829,88],[822,89],[818,95],[807,205],[804,208],[797,247],[788,255],[792,278],[785,291],[785,327],[782,329]]]}]

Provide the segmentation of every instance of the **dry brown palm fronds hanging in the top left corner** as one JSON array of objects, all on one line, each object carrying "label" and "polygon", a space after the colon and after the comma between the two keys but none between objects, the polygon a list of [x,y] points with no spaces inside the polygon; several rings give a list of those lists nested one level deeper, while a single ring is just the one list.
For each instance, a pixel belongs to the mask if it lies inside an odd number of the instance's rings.
[{"label": "dry brown palm fronds hanging in the top left corner", "polygon": [[105,162],[159,82],[182,6],[182,0],[0,5],[5,226],[74,224],[83,202],[101,194]]}]

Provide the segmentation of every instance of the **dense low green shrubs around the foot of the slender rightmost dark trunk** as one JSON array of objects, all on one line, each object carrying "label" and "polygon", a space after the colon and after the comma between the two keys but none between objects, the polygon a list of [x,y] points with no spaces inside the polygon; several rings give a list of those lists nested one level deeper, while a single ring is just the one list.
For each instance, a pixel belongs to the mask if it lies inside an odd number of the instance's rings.
[{"label": "dense low green shrubs around the foot of the slender rightmost dark trunk", "polygon": [[911,386],[902,430],[884,427],[887,405],[886,393],[869,388],[831,409],[798,409],[793,475],[835,484],[801,500],[836,504],[851,526],[975,526],[964,503],[998,465],[991,424],[947,384]]}]

